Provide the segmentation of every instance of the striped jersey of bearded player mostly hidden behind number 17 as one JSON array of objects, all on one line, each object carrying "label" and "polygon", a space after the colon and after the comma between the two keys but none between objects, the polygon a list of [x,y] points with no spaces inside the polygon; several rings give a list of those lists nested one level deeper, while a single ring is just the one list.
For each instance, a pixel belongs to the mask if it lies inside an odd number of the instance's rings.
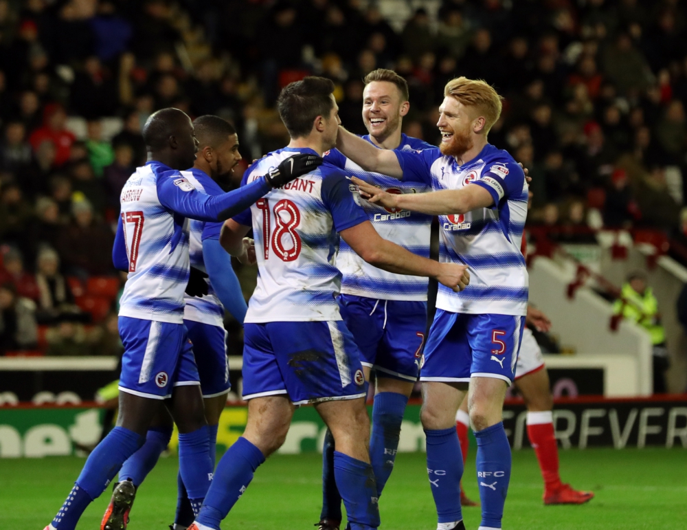
[{"label": "striped jersey of bearded player mostly hidden behind number 17", "polygon": [[[192,168],[182,171],[181,175],[188,179],[199,192],[207,193],[208,195],[221,195],[223,193],[222,188],[210,176],[199,169]],[[208,237],[218,238],[223,224],[196,221],[195,219],[190,221],[188,251],[192,267],[207,272],[205,261],[203,261],[203,240]],[[184,320],[193,320],[194,322],[224,327],[224,307],[219,298],[217,298],[212,288],[212,283],[207,283],[206,295],[189,296],[184,294],[183,299],[185,302],[183,309]]]}]

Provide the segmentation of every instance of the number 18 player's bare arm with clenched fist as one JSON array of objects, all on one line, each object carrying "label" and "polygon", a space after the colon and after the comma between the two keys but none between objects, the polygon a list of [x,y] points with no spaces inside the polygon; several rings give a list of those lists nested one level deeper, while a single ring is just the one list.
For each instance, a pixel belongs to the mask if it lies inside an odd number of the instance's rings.
[{"label": "number 18 player's bare arm with clenched fist", "polygon": [[361,258],[385,271],[435,278],[456,292],[462,291],[470,283],[466,265],[438,263],[413,254],[396,243],[383,239],[370,221],[341,230],[340,235]]}]

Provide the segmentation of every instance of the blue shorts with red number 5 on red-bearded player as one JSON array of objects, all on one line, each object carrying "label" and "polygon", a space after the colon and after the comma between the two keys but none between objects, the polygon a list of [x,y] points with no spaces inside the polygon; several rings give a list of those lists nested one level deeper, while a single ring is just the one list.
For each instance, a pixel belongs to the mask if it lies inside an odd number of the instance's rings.
[{"label": "blue shorts with red number 5 on red-bearded player", "polygon": [[420,381],[469,382],[515,379],[525,317],[469,315],[437,309],[429,329]]}]

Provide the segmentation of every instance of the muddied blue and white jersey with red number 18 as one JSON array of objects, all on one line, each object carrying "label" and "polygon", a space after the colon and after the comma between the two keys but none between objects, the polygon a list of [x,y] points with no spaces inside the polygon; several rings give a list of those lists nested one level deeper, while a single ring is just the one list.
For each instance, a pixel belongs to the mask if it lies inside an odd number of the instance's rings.
[{"label": "muddied blue and white jersey with red number 18", "polygon": [[[308,148],[283,148],[260,159],[242,185]],[[258,286],[245,322],[341,320],[335,296],[341,272],[335,263],[341,230],[368,220],[353,198],[355,186],[338,168],[323,164],[272,190],[237,223],[252,226]]]}]

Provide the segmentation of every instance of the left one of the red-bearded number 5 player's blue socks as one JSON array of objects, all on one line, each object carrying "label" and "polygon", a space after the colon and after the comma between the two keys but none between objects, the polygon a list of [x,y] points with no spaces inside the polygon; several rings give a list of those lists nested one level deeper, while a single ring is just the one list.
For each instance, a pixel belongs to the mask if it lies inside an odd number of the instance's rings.
[{"label": "left one of the red-bearded number 5 player's blue socks", "polygon": [[439,522],[460,521],[460,478],[463,459],[455,427],[425,430],[427,474]]}]

